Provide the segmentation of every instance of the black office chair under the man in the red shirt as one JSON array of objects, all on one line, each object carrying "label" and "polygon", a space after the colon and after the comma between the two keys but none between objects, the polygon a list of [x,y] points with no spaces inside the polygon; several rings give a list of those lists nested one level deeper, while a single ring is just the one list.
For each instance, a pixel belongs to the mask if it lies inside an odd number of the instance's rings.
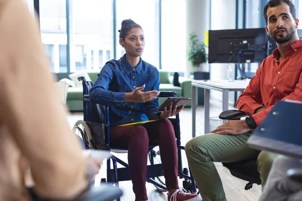
[{"label": "black office chair under the man in the red shirt", "polygon": [[[227,110],[220,113],[219,119],[240,120],[240,118],[246,116],[247,115],[243,111]],[[257,158],[238,162],[222,163],[222,165],[228,168],[233,176],[248,181],[245,186],[245,190],[251,189],[254,183],[258,185],[261,184],[260,174],[257,170]]]}]

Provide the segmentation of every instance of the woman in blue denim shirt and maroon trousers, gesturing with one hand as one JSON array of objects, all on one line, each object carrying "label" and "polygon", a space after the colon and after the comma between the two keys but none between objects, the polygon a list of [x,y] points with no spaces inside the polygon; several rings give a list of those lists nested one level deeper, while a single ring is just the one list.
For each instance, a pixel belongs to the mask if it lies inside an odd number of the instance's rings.
[{"label": "woman in blue denim shirt and maroon trousers, gesturing with one hand", "polygon": [[[135,200],[147,200],[145,182],[149,143],[159,143],[168,188],[168,200],[201,200],[178,186],[177,145],[173,125],[166,118],[182,109],[159,108],[159,71],[141,59],[145,40],[142,28],[132,20],[124,20],[119,30],[119,43],[126,53],[110,60],[102,68],[90,90],[90,101],[110,106],[110,144],[128,150],[129,171]],[[157,120],[145,124],[119,126]]]}]

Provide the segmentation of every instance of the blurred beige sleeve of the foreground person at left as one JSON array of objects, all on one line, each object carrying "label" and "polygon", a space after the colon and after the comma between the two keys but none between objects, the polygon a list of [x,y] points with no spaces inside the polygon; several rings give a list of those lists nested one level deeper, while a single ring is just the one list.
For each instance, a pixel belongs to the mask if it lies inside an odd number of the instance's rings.
[{"label": "blurred beige sleeve of the foreground person at left", "polygon": [[28,8],[20,0],[0,3],[0,123],[28,158],[37,193],[70,198],[88,183],[80,141],[67,124]]}]

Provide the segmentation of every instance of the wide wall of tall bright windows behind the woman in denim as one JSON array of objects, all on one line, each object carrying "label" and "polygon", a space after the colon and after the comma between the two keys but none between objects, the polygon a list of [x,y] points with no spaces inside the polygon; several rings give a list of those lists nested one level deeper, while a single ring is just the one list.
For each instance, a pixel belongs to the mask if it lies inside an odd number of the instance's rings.
[{"label": "wide wall of tall bright windows behind the woman in denim", "polygon": [[[23,1],[33,11],[35,0]],[[186,69],[186,41],[181,40],[186,35],[186,0],[39,0],[39,5],[42,42],[51,71],[62,73],[58,76],[81,69],[100,71],[114,55],[122,57],[125,50],[118,43],[117,30],[129,18],[144,31],[143,60],[159,68],[162,53],[164,70]]]}]

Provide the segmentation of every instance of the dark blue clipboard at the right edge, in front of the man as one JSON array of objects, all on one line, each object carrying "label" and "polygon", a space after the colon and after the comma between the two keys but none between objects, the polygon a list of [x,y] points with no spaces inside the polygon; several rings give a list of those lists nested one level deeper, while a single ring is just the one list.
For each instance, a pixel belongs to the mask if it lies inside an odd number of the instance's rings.
[{"label": "dark blue clipboard at the right edge, in front of the man", "polygon": [[277,102],[248,139],[248,145],[302,159],[302,103]]}]

